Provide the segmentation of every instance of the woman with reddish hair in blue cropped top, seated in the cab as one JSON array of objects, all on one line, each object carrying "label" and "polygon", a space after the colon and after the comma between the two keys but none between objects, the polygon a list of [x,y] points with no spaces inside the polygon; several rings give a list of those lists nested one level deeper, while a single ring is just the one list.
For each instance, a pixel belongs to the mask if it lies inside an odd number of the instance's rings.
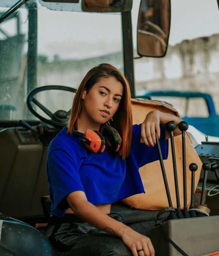
[{"label": "woman with reddish hair in blue cropped top, seated in the cab", "polygon": [[[128,82],[115,67],[92,68],[74,97],[68,128],[49,145],[47,179],[52,204],[46,235],[58,255],[154,255],[145,236],[149,230],[138,230],[143,223],[127,226],[110,217],[111,203],[144,192],[138,169],[158,159],[155,130],[167,158],[168,133],[162,125],[178,124],[181,119],[155,110],[141,125],[132,126],[130,98]],[[108,132],[109,125],[118,133]],[[92,152],[96,146],[86,144],[89,129],[105,136],[108,146],[104,150],[101,145],[100,154]]]}]

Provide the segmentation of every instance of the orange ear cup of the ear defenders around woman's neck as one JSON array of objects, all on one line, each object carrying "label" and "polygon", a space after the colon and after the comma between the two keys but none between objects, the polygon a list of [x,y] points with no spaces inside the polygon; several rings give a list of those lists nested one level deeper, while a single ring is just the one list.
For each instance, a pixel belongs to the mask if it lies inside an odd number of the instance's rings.
[{"label": "orange ear cup of the ear defenders around woman's neck", "polygon": [[89,144],[85,143],[85,147],[87,147],[90,151],[94,153],[101,153],[104,151],[105,139],[100,132],[87,129],[83,138],[90,142]]}]

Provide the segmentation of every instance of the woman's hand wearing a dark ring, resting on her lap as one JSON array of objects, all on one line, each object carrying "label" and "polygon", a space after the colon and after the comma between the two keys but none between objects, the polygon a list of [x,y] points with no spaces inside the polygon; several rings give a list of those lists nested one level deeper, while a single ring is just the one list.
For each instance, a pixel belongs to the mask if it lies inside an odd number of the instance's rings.
[{"label": "woman's hand wearing a dark ring, resting on her lap", "polygon": [[133,256],[154,256],[154,247],[150,238],[139,234],[133,229],[126,230],[121,238],[131,250]]}]

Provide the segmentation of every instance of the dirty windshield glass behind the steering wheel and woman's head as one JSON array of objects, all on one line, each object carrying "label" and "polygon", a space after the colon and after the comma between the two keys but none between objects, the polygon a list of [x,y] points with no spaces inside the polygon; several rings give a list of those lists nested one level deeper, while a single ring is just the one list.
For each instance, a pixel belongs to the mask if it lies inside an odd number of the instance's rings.
[{"label": "dirty windshield glass behind the steering wheel and woman's head", "polygon": [[[7,10],[0,8],[1,14]],[[77,89],[89,69],[100,63],[111,63],[123,72],[120,14],[47,8],[31,11],[21,8],[16,16],[0,24],[0,121],[38,120],[26,106],[28,92],[34,87],[64,85]],[[34,12],[37,19],[32,19],[28,31],[29,18]],[[37,37],[31,34],[34,30]],[[32,37],[31,44],[37,42],[36,67],[34,58],[27,61],[28,37]],[[36,83],[27,79],[28,72],[34,70]],[[46,91],[36,98],[54,113],[60,109],[68,111],[73,94]]]}]

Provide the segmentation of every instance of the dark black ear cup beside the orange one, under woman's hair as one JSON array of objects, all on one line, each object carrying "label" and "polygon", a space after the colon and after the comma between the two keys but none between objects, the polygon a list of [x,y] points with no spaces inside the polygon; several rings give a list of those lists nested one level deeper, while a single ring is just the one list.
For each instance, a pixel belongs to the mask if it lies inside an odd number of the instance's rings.
[{"label": "dark black ear cup beside the orange one, under woman's hair", "polygon": [[117,152],[122,144],[122,139],[119,133],[112,126],[107,125],[103,129],[103,136],[105,138],[105,146],[111,152]]}]

